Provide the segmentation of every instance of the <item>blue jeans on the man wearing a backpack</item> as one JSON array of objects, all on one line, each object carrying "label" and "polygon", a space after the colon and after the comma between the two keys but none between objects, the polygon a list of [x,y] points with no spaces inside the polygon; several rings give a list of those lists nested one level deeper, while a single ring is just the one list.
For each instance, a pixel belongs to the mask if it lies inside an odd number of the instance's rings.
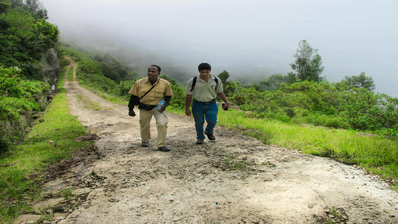
[{"label": "blue jeans on the man wearing a backpack", "polygon": [[216,99],[209,102],[199,102],[193,99],[192,115],[195,119],[197,139],[205,139],[205,135],[203,134],[203,125],[205,124],[205,119],[207,122],[205,134],[213,134],[214,127],[217,124],[218,112],[219,108],[217,106]]}]

